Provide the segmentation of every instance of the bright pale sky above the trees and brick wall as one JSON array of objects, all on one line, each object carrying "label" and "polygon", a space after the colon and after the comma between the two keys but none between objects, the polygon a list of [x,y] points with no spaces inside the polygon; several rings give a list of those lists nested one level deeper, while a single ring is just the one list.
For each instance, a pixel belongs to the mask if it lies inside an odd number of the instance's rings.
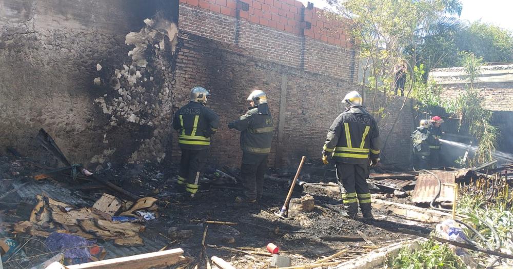
[{"label": "bright pale sky above the trees and brick wall", "polygon": [[[308,0],[300,0],[307,5]],[[513,0],[460,0],[463,4],[461,19],[473,22],[481,19],[513,32]],[[315,7],[324,8],[326,0],[309,0]]]}]

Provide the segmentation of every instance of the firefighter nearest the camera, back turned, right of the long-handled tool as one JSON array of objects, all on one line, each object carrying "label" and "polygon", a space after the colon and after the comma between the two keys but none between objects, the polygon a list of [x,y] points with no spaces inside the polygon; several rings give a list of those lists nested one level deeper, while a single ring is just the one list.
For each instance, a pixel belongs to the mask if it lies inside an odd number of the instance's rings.
[{"label": "firefighter nearest the camera, back turned, right of the long-handled tool", "polygon": [[335,161],[342,200],[350,218],[358,216],[358,202],[364,219],[373,219],[370,190],[366,179],[369,165],[379,161],[380,139],[376,120],[363,108],[362,96],[352,91],[342,100],[346,110],[328,130],[322,161],[328,154]]}]

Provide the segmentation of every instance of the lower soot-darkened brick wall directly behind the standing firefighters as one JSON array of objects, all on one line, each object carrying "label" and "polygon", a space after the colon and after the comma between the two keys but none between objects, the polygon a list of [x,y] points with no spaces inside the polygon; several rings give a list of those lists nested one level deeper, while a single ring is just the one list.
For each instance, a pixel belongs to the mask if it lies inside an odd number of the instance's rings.
[{"label": "lower soot-darkened brick wall directly behind the standing firefighters", "polygon": [[[318,159],[327,129],[343,111],[342,97],[359,90],[343,78],[263,60],[245,54],[238,46],[192,33],[182,33],[178,48],[175,106],[187,104],[189,89],[202,85],[212,94],[208,107],[221,117],[221,127],[212,140],[211,164],[240,164],[239,132],[229,130],[227,124],[247,111],[246,97],[255,87],[268,94],[275,122],[269,164],[277,167],[294,167],[302,155]],[[391,106],[391,115],[397,115],[399,99],[397,103]],[[283,132],[279,134],[280,129]],[[409,162],[411,129],[411,106],[407,106],[385,150],[389,162],[403,166]],[[383,138],[388,133],[385,128]],[[172,158],[177,161],[180,152],[177,147],[173,149]]]}]

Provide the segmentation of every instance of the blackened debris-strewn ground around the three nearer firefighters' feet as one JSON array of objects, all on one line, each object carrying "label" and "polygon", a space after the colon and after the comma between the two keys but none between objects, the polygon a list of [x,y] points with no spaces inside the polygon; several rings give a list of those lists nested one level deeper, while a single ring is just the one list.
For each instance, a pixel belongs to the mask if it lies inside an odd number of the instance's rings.
[{"label": "blackened debris-strewn ground around the three nearer firefighters' feet", "polygon": [[[70,177],[54,176],[52,179],[43,179],[35,182],[30,175],[41,173],[41,162],[37,163],[29,158],[0,156],[0,175],[2,178],[0,193],[12,189],[14,182],[30,182],[36,186],[56,185],[72,190],[73,196],[86,200],[91,206],[103,192],[123,198],[109,189],[83,189],[80,180],[73,182]],[[315,209],[309,213],[302,213],[301,218],[280,219],[274,213],[279,212],[285,199],[287,184],[266,181],[264,197],[261,206],[248,208],[234,202],[236,195],[241,192],[239,185],[215,186],[204,181],[200,185],[199,197],[192,201],[181,198],[175,189],[176,167],[165,167],[157,164],[131,164],[124,167],[104,165],[104,169],[96,173],[96,177],[108,179],[125,190],[141,197],[152,196],[159,199],[159,217],[145,223],[146,229],[141,233],[145,246],[119,247],[108,241],[98,240],[97,243],[105,247],[106,258],[141,254],[162,249],[181,247],[184,256],[191,257],[189,267],[199,262],[202,252],[202,237],[205,224],[195,220],[214,220],[236,222],[236,225],[208,224],[205,239],[206,254],[218,256],[230,262],[237,268],[267,268],[270,254],[265,247],[268,243],[279,246],[280,254],[291,257],[292,265],[309,264],[316,259],[332,255],[340,250],[348,251],[339,260],[349,260],[367,252],[395,242],[403,241],[411,236],[397,232],[400,227],[411,230],[429,232],[432,227],[424,223],[408,221],[388,212],[374,210],[374,221],[356,221],[344,217],[340,200],[326,196],[314,196]],[[19,173],[19,174],[18,174]],[[291,178],[286,178],[291,179]],[[319,180],[318,177],[302,177],[306,180]],[[329,180],[329,179],[327,179]],[[91,184],[91,183],[87,183]],[[83,186],[89,186],[83,185]],[[87,187],[90,188],[90,187]],[[293,193],[293,198],[300,198],[304,193]],[[30,208],[34,201],[20,202],[17,193],[10,194],[0,201],[0,219],[2,219],[2,237],[17,238],[20,243],[27,242],[26,256],[29,257],[30,266],[22,266],[17,261],[4,263],[6,268],[30,268],[52,255],[38,249],[37,238],[26,235],[14,235],[9,226],[14,222],[27,220],[20,216],[20,208]],[[398,198],[394,198],[398,201]],[[23,205],[23,206],[22,206]],[[302,219],[300,223],[299,219]],[[190,230],[191,236],[187,238],[170,238],[169,230]],[[360,236],[363,233],[368,241],[338,242],[321,239],[323,236]],[[233,242],[234,240],[234,242]],[[28,242],[31,241],[31,242]],[[226,249],[229,247],[230,249]],[[46,253],[46,254],[45,254]],[[204,267],[202,259],[200,266]]]}]

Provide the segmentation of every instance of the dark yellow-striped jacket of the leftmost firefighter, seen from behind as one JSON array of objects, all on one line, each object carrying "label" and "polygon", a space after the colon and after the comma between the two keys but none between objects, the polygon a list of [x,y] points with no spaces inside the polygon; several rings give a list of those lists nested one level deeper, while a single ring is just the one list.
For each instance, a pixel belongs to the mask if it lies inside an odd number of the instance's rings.
[{"label": "dark yellow-striped jacket of the leftmost firefighter, seen from behind", "polygon": [[173,129],[179,132],[180,148],[202,150],[218,130],[219,116],[199,102],[189,102],[174,113]]}]

